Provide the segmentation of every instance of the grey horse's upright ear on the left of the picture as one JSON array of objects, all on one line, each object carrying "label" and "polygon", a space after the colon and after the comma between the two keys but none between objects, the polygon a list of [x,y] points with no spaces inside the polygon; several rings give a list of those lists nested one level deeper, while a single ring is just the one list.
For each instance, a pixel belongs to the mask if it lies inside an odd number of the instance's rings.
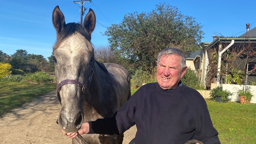
[{"label": "grey horse's upright ear on the left of the picture", "polygon": [[56,6],[53,10],[53,26],[56,29],[57,37],[59,36],[59,33],[63,29],[63,27],[66,25],[65,18],[61,10],[59,9],[59,6]]}]

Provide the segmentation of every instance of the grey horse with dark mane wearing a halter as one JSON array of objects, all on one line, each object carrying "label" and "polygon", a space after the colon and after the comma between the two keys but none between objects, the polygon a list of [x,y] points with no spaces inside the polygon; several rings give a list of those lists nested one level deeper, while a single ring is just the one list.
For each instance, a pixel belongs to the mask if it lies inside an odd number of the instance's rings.
[{"label": "grey horse with dark mane wearing a halter", "polygon": [[[112,117],[131,96],[130,75],[119,64],[102,64],[94,58],[91,33],[96,17],[92,9],[83,24],[65,23],[59,6],[52,14],[56,42],[52,58],[55,62],[56,96],[61,104],[57,124],[66,132],[78,132],[83,122]],[[79,135],[80,136],[80,135]],[[124,134],[82,134],[87,143],[121,144]],[[72,143],[82,143],[76,137]]]}]

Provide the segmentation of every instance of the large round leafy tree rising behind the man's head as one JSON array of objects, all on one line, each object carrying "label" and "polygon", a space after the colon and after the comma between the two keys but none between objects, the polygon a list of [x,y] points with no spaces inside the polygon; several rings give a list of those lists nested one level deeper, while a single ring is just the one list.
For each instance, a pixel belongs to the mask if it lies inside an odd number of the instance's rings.
[{"label": "large round leafy tree rising behind the man's head", "polygon": [[186,55],[195,51],[203,35],[201,28],[195,18],[160,3],[149,13],[127,13],[120,24],[108,27],[105,35],[119,63],[127,61],[152,73],[160,50],[176,47]]}]

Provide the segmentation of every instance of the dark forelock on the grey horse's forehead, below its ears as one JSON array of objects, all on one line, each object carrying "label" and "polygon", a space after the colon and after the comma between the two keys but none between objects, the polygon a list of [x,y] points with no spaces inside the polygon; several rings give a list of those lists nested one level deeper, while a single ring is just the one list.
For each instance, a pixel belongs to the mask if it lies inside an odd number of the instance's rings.
[{"label": "dark forelock on the grey horse's forehead, below its ears", "polygon": [[83,35],[89,42],[91,42],[91,35],[89,35],[83,26],[80,23],[68,23],[64,25],[64,28],[61,30],[59,37],[57,37],[56,43],[53,46],[53,51],[59,47],[61,42],[65,40],[70,35],[78,32],[79,34]]}]

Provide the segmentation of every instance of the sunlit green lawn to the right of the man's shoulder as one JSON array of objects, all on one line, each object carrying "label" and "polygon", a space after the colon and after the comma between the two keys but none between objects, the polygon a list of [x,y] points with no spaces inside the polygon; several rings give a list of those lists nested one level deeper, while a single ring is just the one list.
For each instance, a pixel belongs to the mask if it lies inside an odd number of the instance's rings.
[{"label": "sunlit green lawn to the right of the man's shoulder", "polygon": [[206,103],[222,144],[256,143],[256,104]]}]

